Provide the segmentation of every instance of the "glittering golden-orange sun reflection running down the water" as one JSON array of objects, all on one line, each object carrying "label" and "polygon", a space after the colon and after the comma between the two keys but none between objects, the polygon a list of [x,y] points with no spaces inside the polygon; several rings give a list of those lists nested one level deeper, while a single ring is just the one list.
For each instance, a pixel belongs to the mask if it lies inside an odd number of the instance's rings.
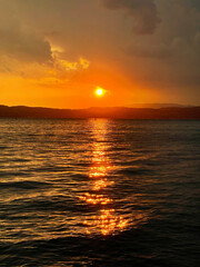
[{"label": "glittering golden-orange sun reflection running down the water", "polygon": [[107,142],[107,120],[98,120],[92,123],[93,151],[92,162],[89,171],[89,179],[92,179],[91,191],[80,196],[80,200],[88,205],[97,206],[98,214],[86,217],[83,225],[87,234],[99,233],[103,236],[111,235],[124,229],[128,219],[118,215],[113,208],[114,199],[102,194],[101,190],[113,186],[114,181],[109,178],[109,172],[116,167],[107,156],[109,145]]}]

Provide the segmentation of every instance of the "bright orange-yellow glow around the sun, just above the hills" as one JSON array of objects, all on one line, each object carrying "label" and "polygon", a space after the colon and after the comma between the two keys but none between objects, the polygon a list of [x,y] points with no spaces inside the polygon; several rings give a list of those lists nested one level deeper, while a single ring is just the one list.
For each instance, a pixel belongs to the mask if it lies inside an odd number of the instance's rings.
[{"label": "bright orange-yellow glow around the sun, just above the hills", "polygon": [[130,82],[116,66],[107,65],[101,69],[96,67],[101,62],[93,65],[82,57],[71,61],[61,57],[59,47],[54,47],[52,53],[53,66],[10,58],[3,61],[2,66],[14,71],[0,73],[1,105],[81,109],[168,99],[168,95],[161,96],[156,88]]}]

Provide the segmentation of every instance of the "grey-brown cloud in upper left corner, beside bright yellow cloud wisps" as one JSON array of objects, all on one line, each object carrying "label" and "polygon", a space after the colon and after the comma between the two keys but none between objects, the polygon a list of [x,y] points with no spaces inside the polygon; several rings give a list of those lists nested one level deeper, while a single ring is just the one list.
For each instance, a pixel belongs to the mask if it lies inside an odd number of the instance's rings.
[{"label": "grey-brown cloud in upper left corner, beside bright yellow cloud wisps", "polygon": [[44,37],[23,23],[11,4],[2,1],[0,4],[3,4],[0,10],[0,57],[39,63],[50,61],[51,47]]}]

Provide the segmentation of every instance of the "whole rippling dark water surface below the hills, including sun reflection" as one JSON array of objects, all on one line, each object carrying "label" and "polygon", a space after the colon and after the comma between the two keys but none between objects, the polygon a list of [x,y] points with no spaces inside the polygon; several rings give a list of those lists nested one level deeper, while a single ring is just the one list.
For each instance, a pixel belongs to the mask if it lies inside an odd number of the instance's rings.
[{"label": "whole rippling dark water surface below the hills, including sun reflection", "polygon": [[200,266],[200,121],[0,120],[0,266]]}]

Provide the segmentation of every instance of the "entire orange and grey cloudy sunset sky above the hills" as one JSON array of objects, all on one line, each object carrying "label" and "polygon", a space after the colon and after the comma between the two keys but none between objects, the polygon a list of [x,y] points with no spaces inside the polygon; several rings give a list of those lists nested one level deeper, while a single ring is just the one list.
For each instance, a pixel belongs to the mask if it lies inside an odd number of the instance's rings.
[{"label": "entire orange and grey cloudy sunset sky above the hills", "polygon": [[199,0],[0,0],[0,105],[200,105]]}]

